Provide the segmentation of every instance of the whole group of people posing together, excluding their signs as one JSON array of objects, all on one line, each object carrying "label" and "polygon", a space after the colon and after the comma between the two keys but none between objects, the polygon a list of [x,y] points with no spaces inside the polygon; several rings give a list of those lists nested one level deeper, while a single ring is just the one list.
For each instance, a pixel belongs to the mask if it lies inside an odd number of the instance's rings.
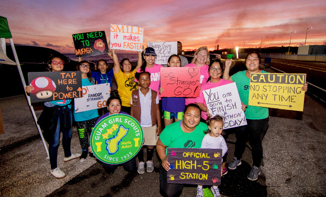
[{"label": "whole group of people posing together, excluding their signs", "polygon": [[[82,154],[72,154],[70,142],[72,136],[73,107],[71,100],[55,100],[44,103],[44,111],[39,119],[41,129],[49,133],[49,155],[51,170],[50,173],[56,178],[64,178],[66,174],[57,167],[57,150],[59,146],[60,132],[63,133],[62,144],[64,148],[64,161],[68,162],[80,158],[84,161],[91,152],[89,146],[89,135],[97,122],[101,119],[117,113],[130,114],[141,125],[144,131],[143,148],[146,147],[147,158],[144,160],[144,150],[141,148],[137,158],[120,164],[128,172],[138,173],[152,172],[154,147],[160,158],[160,193],[164,197],[180,196],[182,184],[167,183],[167,170],[170,169],[166,157],[166,148],[218,148],[222,149],[223,164],[221,176],[227,174],[226,152],[228,150],[223,138],[223,117],[214,116],[209,113],[206,106],[203,91],[218,86],[236,82],[242,110],[247,119],[247,125],[236,128],[236,148],[234,159],[228,164],[229,169],[236,169],[241,164],[245,144],[249,141],[252,147],[253,166],[247,178],[257,180],[260,174],[259,166],[263,157],[262,138],[268,127],[268,108],[248,105],[250,73],[265,72],[259,68],[261,63],[260,55],[257,52],[250,52],[245,57],[246,70],[237,72],[230,76],[229,71],[232,60],[225,62],[225,70],[219,60],[210,62],[209,51],[206,47],[199,48],[191,64],[185,64],[185,58],[179,54],[182,50],[178,42],[178,55],[171,55],[168,59],[168,67],[198,67],[200,69],[200,97],[198,98],[161,98],[164,91],[161,88],[160,69],[162,65],[155,64],[156,53],[151,47],[138,52],[138,61],[135,69],[131,70],[131,62],[122,59],[119,62],[114,49],[109,51],[109,57],[113,60],[113,69],[107,71],[108,65],[105,60],[99,60],[97,66],[99,72],[91,72],[92,63],[82,61],[76,69],[82,71],[82,86],[110,83],[115,78],[118,90],[111,89],[111,97],[107,100],[105,114],[102,111],[89,110],[75,113],[74,118],[79,132]],[[181,51],[180,51],[181,52]],[[182,58],[181,58],[182,57]],[[143,59],[144,58],[144,61]],[[184,58],[184,59],[183,59]],[[59,57],[52,57],[48,62],[50,71],[62,71],[64,61]],[[34,88],[29,85],[26,92],[30,93]],[[307,91],[307,84],[302,88]],[[100,113],[99,113],[100,112]],[[102,116],[100,116],[102,115]],[[165,129],[162,131],[161,117],[163,115]],[[222,132],[223,131],[223,132]],[[104,164],[107,173],[113,173],[119,165]],[[214,197],[219,197],[217,186],[212,186],[211,191]],[[203,186],[197,188],[197,197],[203,197]]]}]

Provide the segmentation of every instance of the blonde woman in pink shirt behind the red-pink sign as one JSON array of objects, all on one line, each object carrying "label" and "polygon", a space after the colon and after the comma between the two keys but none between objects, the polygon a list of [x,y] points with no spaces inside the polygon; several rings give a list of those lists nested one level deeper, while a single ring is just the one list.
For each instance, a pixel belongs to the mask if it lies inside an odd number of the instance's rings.
[{"label": "blonde woman in pink shirt behind the red-pink sign", "polygon": [[[193,61],[186,65],[185,67],[198,67],[200,69],[201,74],[201,84],[205,84],[207,82],[207,79],[209,78],[208,74],[208,65],[209,65],[209,51],[207,50],[207,47],[202,46],[201,48],[197,49],[197,51],[194,54]],[[187,98],[186,99],[186,105],[190,103],[195,103],[195,98]]]}]

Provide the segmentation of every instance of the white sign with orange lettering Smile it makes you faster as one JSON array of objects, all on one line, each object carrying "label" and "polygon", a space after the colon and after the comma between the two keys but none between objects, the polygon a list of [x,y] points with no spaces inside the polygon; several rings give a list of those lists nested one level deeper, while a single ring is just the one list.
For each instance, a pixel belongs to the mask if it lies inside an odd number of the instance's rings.
[{"label": "white sign with orange lettering Smile it makes you faster", "polygon": [[110,26],[110,48],[128,51],[143,50],[144,28],[130,25]]}]

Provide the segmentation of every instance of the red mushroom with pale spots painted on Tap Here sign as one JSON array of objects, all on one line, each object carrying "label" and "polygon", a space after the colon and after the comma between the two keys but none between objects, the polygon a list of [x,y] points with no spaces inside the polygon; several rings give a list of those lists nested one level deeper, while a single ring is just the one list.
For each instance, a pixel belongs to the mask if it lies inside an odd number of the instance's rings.
[{"label": "red mushroom with pale spots painted on Tap Here sign", "polygon": [[35,78],[30,85],[34,88],[31,94],[36,95],[39,99],[51,97],[56,89],[55,83],[48,77]]}]

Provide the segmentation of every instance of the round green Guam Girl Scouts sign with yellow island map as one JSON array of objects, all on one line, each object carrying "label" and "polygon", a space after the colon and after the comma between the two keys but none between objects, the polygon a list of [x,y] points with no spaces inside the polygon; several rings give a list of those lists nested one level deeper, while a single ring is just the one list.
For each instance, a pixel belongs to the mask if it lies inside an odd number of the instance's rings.
[{"label": "round green Guam Girl Scouts sign with yellow island map", "polygon": [[90,147],[101,162],[122,164],[137,155],[143,140],[143,130],[136,119],[126,114],[113,114],[95,125]]}]

